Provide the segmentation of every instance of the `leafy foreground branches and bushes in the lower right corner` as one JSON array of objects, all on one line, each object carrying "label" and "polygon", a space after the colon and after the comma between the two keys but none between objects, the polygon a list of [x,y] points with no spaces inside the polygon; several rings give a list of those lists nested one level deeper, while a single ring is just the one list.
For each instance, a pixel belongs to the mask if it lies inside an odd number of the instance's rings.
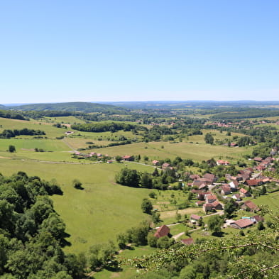
[{"label": "leafy foreground branches and bushes in the lower right corner", "polygon": [[[231,239],[201,239],[195,245],[180,243],[125,263],[142,270],[138,278],[278,278],[279,215],[265,231]],[[162,270],[163,273],[162,273]]]}]

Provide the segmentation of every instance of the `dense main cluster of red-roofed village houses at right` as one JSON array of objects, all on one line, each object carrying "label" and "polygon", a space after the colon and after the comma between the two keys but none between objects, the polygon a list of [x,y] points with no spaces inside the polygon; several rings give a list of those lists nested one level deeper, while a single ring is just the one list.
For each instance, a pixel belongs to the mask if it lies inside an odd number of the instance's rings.
[{"label": "dense main cluster of red-roofed village houses at right", "polygon": [[[271,151],[271,153],[273,153]],[[277,159],[273,157],[267,158],[253,158],[253,162],[256,165],[253,168],[244,168],[239,170],[239,173],[234,176],[229,173],[226,174],[226,182],[217,182],[217,176],[211,173],[205,173],[203,176],[192,174],[190,175],[190,180],[187,186],[191,187],[191,192],[195,195],[197,202],[195,204],[197,207],[201,207],[204,212],[204,216],[199,216],[197,214],[191,214],[187,223],[193,224],[195,229],[190,231],[195,231],[199,228],[207,230],[207,225],[204,226],[203,219],[210,217],[212,215],[218,214],[224,216],[224,224],[222,228],[226,229],[231,227],[234,229],[246,229],[256,224],[263,224],[265,221],[264,217],[261,215],[261,209],[251,200],[253,197],[253,191],[257,190],[257,187],[261,186],[262,195],[266,194],[266,186],[268,183],[273,182],[278,183],[278,179],[270,176],[263,175],[264,170],[273,172],[273,161]],[[156,162],[153,162],[156,163]],[[230,165],[229,161],[217,160],[217,165]],[[163,166],[162,166],[163,167]],[[172,168],[170,165],[165,165],[165,168]],[[253,197],[255,198],[255,197]],[[232,199],[234,201],[235,208],[244,212],[249,212],[248,216],[243,216],[240,219],[229,219],[226,218],[226,212],[224,211],[224,204]],[[170,225],[171,226],[171,225]],[[170,226],[162,225],[157,227],[154,236],[160,239],[163,236],[173,237],[175,240],[177,236],[183,236],[180,233],[176,236],[170,234]],[[243,234],[243,232],[241,232]],[[185,245],[191,245],[195,243],[195,240],[190,238],[181,239],[180,242]]]}]

